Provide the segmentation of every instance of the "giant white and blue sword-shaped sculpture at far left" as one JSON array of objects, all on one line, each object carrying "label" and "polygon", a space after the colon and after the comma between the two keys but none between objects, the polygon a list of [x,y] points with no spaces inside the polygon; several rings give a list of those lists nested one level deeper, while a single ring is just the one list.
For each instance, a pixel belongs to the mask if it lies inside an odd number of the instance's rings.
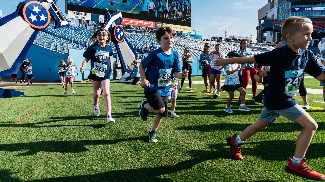
[{"label": "giant white and blue sword-shaped sculpture at far left", "polygon": [[[55,0],[22,1],[16,12],[0,19],[0,75],[18,72],[37,33],[48,27],[51,17],[54,28],[70,26]],[[0,89],[0,98],[18,95],[23,92]]]}]

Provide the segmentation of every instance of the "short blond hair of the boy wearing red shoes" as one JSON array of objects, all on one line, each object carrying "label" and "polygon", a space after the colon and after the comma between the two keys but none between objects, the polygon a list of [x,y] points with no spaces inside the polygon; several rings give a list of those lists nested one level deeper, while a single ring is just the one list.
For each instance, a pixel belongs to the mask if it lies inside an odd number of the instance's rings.
[{"label": "short blond hair of the boy wearing red shoes", "polygon": [[284,21],[284,23],[282,25],[282,28],[281,28],[282,39],[284,41],[286,41],[288,34],[296,33],[306,23],[313,24],[313,22],[311,22],[311,20],[309,18],[302,18],[302,17],[289,17],[289,18],[287,18]]}]

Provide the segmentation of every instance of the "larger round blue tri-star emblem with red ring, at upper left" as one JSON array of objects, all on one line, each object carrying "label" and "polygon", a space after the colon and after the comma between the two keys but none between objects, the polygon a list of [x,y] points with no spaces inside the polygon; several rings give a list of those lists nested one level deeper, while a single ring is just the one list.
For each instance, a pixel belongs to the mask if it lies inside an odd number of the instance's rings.
[{"label": "larger round blue tri-star emblem with red ring, at upper left", "polygon": [[23,19],[35,29],[41,29],[50,23],[50,12],[38,1],[26,3],[22,10]]}]

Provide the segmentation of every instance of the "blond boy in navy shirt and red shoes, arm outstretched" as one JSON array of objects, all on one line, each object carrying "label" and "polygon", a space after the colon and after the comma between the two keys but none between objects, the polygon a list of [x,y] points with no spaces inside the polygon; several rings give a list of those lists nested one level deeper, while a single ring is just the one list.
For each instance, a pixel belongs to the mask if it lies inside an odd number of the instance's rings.
[{"label": "blond boy in navy shirt and red shoes, arm outstretched", "polygon": [[307,50],[309,42],[312,40],[312,32],[313,25],[310,19],[289,17],[281,28],[282,38],[286,42],[286,46],[253,57],[238,57],[227,60],[218,58],[219,60],[216,60],[217,63],[214,64],[221,65],[223,68],[229,63],[258,63],[261,66],[271,66],[272,68],[264,108],[260,117],[240,135],[235,134],[233,137],[227,137],[232,156],[235,159],[242,159],[242,142],[258,131],[265,130],[269,123],[282,115],[303,127],[296,142],[294,155],[292,159],[288,158],[289,164],[284,170],[307,179],[325,180],[323,174],[312,170],[305,163],[305,154],[318,125],[292,98],[297,93],[304,72],[319,81],[325,80],[324,69],[317,62],[313,52]]}]

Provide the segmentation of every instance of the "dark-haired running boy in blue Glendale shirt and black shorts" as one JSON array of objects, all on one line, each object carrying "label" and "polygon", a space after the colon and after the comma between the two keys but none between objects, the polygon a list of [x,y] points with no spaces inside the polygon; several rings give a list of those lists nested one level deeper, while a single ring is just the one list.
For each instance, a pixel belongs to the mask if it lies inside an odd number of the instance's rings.
[{"label": "dark-haired running boy in blue Glendale shirt and black shorts", "polygon": [[[188,71],[183,72],[179,66],[179,56],[172,51],[174,44],[174,32],[169,27],[161,27],[156,31],[156,41],[160,48],[151,52],[139,65],[141,87],[147,99],[140,104],[140,118],[147,120],[148,110],[155,113],[153,125],[149,131],[149,142],[158,142],[156,130],[163,117],[168,116],[167,96],[171,84],[171,75],[177,78],[185,78]],[[146,70],[147,68],[147,70]]]}]

